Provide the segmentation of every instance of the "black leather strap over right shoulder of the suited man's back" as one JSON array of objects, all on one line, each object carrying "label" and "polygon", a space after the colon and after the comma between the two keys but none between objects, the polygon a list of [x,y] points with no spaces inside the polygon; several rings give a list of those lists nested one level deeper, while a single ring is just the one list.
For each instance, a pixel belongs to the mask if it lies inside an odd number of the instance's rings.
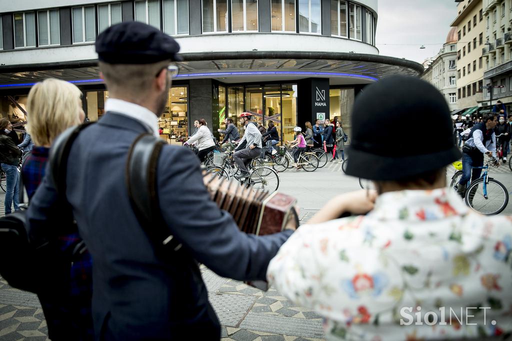
[{"label": "black leather strap over right shoulder of the suited man's back", "polygon": [[157,251],[178,251],[182,245],[170,235],[166,227],[162,227],[165,224],[158,199],[157,167],[164,145],[164,141],[151,134],[139,135],[133,142],[126,160],[125,180],[137,220]]}]

